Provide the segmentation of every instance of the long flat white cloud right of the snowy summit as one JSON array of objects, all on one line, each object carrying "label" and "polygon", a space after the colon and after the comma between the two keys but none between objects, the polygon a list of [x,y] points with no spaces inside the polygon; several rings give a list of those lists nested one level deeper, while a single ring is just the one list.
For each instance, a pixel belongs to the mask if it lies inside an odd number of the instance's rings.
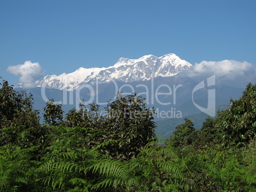
[{"label": "long flat white cloud right of the snowy summit", "polygon": [[188,71],[188,76],[213,75],[234,79],[244,76],[246,72],[254,71],[255,67],[248,62],[238,62],[236,60],[222,60],[219,62],[203,61],[195,64],[192,70]]}]

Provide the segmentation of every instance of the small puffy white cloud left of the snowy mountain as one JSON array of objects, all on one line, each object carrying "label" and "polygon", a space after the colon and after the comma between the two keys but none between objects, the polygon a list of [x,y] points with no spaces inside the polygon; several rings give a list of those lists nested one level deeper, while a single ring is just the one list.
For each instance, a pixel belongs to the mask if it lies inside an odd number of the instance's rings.
[{"label": "small puffy white cloud left of the snowy mountain", "polygon": [[32,63],[30,60],[22,65],[9,66],[6,71],[20,76],[19,82],[23,83],[24,88],[35,86],[34,82],[43,77],[43,70],[39,63]]}]

